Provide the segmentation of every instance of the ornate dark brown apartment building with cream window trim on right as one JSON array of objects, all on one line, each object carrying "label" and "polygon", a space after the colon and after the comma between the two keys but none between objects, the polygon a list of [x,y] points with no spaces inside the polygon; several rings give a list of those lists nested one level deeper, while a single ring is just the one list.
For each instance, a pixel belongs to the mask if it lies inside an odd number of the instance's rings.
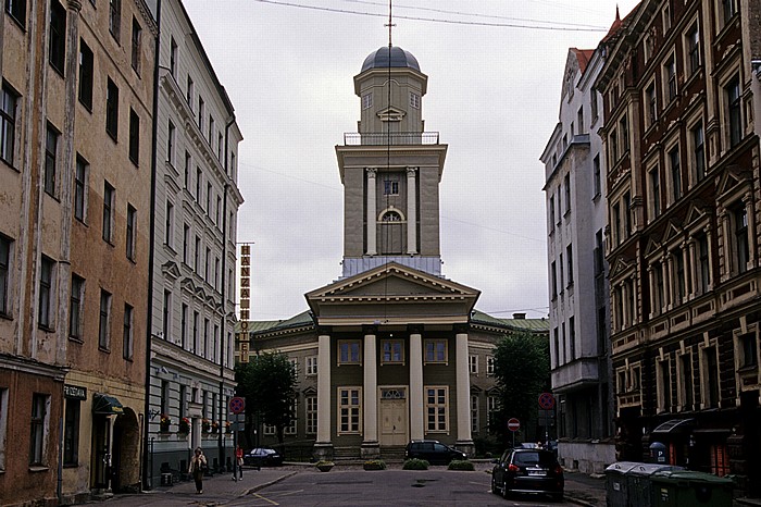
[{"label": "ornate dark brown apartment building with cream window trim on right", "polygon": [[745,0],[643,1],[595,84],[619,457],[654,453],[733,474],[751,496],[761,483],[757,16]]}]

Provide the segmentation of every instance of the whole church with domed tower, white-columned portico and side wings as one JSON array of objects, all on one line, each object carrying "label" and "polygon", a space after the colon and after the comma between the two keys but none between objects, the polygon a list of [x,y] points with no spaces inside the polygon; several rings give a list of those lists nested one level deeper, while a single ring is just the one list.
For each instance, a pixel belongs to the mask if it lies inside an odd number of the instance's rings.
[{"label": "whole church with domed tower, white-columned portico and side wings", "polygon": [[[441,274],[439,183],[447,145],[424,131],[427,76],[383,47],[354,77],[359,132],[336,147],[345,188],[342,273],[286,321],[241,322],[237,359],[267,350],[296,364],[299,399],[286,438],[317,458],[375,458],[435,438],[474,455],[496,408],[494,351],[546,320],[495,319],[479,292]],[[525,317],[525,316],[517,316]],[[274,442],[263,428],[262,442]]]}]

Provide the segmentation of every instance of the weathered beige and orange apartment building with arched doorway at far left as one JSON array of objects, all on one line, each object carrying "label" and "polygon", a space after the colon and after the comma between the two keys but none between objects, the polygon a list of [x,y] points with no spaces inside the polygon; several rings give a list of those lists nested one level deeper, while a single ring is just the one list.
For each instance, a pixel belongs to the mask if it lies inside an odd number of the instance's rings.
[{"label": "weathered beige and orange apartment building with arched doorway at far left", "polygon": [[83,500],[139,484],[158,30],[142,0],[0,27],[0,504]]}]

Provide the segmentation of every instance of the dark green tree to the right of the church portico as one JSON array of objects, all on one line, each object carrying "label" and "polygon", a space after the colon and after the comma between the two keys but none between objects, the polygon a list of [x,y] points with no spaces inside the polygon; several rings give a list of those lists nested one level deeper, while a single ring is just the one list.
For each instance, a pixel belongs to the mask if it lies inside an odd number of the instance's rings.
[{"label": "dark green tree to the right of the church portico", "polygon": [[547,337],[525,332],[504,336],[495,354],[495,379],[499,404],[490,425],[507,444],[508,419],[517,418],[527,429],[536,418],[539,394],[550,387]]}]

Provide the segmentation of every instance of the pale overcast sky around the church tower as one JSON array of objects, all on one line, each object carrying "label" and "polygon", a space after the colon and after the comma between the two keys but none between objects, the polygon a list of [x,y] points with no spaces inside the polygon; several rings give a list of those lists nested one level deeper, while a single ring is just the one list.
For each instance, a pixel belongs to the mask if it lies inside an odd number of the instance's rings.
[{"label": "pale overcast sky around the church tower", "polygon": [[[357,132],[353,77],[388,45],[388,1],[183,0],[244,141],[238,243],[251,320],[288,319],[341,274],[335,147]],[[428,76],[427,132],[449,145],[442,274],[498,318],[548,317],[544,164],[569,48],[594,49],[636,0],[398,0],[392,44]]]}]

